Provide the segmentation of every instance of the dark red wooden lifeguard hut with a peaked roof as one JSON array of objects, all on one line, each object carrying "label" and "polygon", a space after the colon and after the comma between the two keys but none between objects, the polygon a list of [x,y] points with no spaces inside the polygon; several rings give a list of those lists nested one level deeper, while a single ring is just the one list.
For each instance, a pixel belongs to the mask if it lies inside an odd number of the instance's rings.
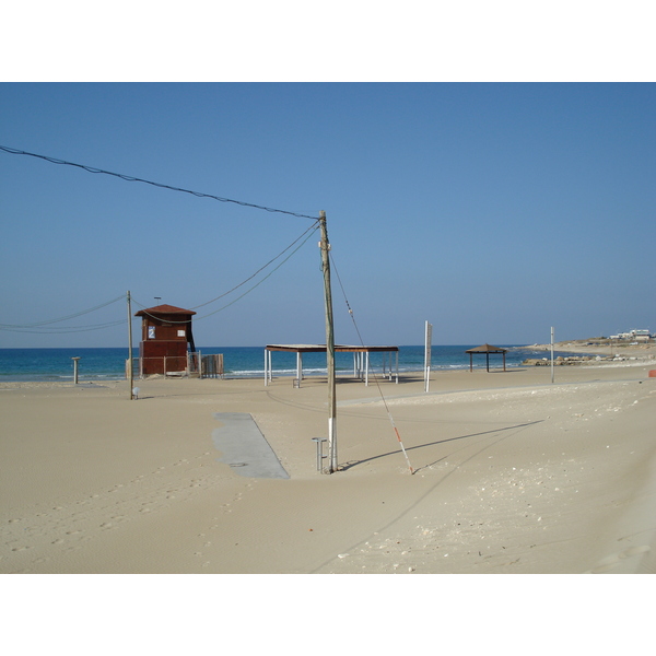
[{"label": "dark red wooden lifeguard hut with a peaked roof", "polygon": [[142,317],[139,344],[142,376],[187,371],[187,351],[196,351],[191,333],[191,316],[195,314],[191,309],[174,305],[157,305],[134,314]]}]

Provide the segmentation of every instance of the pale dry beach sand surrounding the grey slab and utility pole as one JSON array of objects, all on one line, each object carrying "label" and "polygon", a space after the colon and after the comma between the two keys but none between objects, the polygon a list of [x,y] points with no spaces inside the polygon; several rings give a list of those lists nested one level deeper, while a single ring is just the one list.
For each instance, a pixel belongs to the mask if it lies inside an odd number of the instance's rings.
[{"label": "pale dry beach sand surrounding the grey slab and utility pole", "polygon": [[[4,384],[0,572],[652,573],[654,368],[340,378],[332,475],[321,378]],[[216,412],[290,478],[222,462]]]}]

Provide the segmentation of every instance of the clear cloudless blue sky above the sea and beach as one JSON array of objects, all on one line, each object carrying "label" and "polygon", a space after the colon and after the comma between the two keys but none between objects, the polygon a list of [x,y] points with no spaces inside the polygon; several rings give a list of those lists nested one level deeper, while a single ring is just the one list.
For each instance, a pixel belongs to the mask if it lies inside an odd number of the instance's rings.
[{"label": "clear cloudless blue sky above the sea and beach", "polygon": [[[422,343],[426,319],[435,344],[656,331],[654,116],[653,83],[0,84],[1,145],[325,210],[341,343],[359,338],[337,274],[370,344]],[[0,198],[2,324],[127,290],[197,307],[313,224],[4,152]],[[198,307],[196,343],[325,341],[317,242],[225,309],[238,294]],[[125,316],[120,301],[55,326]],[[0,330],[0,347],[126,332]]]}]

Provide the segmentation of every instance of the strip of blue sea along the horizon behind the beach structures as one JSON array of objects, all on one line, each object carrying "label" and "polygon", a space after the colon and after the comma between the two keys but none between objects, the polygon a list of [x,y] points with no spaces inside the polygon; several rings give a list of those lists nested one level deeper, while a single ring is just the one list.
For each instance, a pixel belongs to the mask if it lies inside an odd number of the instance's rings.
[{"label": "strip of blue sea along the horizon behind the beach structures", "polygon": [[[469,368],[470,345],[433,345],[431,349],[431,371],[454,371]],[[506,367],[517,367],[527,358],[550,356],[548,352],[530,347],[503,345],[506,353]],[[263,347],[208,347],[198,348],[203,355],[223,353],[226,378],[256,378],[265,375]],[[133,351],[138,356],[138,349]],[[571,355],[571,353],[557,353]],[[126,377],[128,349],[0,349],[0,383],[2,382],[67,382],[73,379],[72,358],[79,358],[78,379],[80,382],[120,380]],[[295,376],[296,355],[276,351],[272,353],[273,376]],[[490,355],[490,368],[502,366],[501,355]],[[370,371],[379,373],[383,366],[389,371],[389,354],[384,362],[382,353],[371,353]],[[424,347],[399,347],[399,374],[420,372],[424,367]],[[485,366],[483,355],[473,356],[473,366]],[[353,373],[353,354],[336,353],[337,376]],[[396,371],[396,358],[393,354],[393,370]],[[326,375],[325,353],[303,354],[304,376]]]}]

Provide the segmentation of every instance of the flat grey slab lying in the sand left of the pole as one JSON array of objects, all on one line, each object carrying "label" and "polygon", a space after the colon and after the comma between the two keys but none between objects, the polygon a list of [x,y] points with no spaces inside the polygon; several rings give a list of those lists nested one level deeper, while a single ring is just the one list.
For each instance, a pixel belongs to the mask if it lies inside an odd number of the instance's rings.
[{"label": "flat grey slab lying in the sand left of the pole", "polygon": [[212,442],[223,454],[221,462],[248,478],[290,478],[250,414],[214,412],[214,417],[221,422],[212,431]]}]

